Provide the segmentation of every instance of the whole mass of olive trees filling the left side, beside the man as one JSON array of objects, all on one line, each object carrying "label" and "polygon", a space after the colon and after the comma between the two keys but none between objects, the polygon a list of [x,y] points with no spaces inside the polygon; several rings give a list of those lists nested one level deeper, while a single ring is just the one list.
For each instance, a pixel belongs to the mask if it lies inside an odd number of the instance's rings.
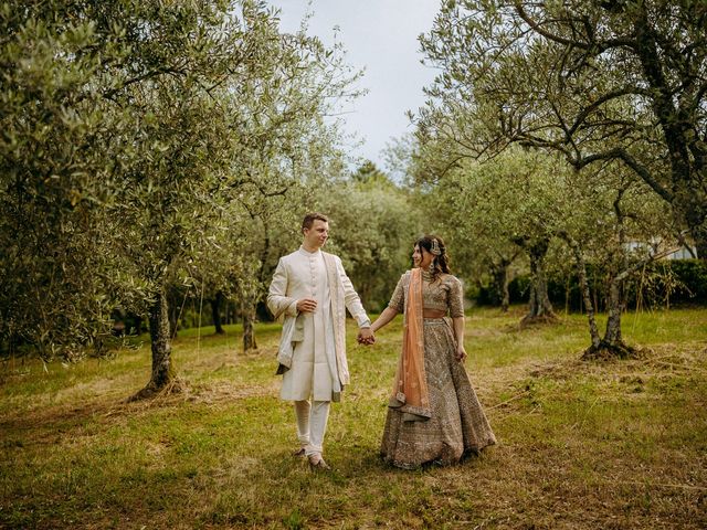
[{"label": "whole mass of olive trees filling the left side, beside the man", "polygon": [[257,290],[340,167],[325,118],[358,73],[251,0],[6,2],[0,24],[2,349],[75,358],[122,306],[161,386],[168,293]]}]

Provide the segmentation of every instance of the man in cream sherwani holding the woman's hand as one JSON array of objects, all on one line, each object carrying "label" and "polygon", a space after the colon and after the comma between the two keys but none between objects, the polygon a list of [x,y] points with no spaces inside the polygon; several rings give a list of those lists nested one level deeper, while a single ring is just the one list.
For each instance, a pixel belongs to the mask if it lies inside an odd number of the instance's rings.
[{"label": "man in cream sherwani holding the woman's hand", "polygon": [[[341,259],[321,252],[329,221],[320,213],[302,222],[299,250],[279,258],[267,294],[267,307],[283,321],[277,353],[283,374],[281,398],[295,402],[296,456],[312,467],[330,469],[321,457],[331,401],[349,382],[346,361],[346,309],[357,320],[360,342],[372,342],[371,322],[354,290]],[[312,403],[309,402],[312,399]]]}]

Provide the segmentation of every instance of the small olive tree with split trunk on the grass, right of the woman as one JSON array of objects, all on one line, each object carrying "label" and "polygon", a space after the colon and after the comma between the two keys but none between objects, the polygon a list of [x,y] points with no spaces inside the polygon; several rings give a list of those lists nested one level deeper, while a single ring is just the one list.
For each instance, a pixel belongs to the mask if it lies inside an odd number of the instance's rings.
[{"label": "small olive tree with split trunk on the grass, right of the woman", "polygon": [[[645,183],[615,163],[591,179],[572,179],[566,200],[576,208],[557,235],[570,251],[587,312],[591,344],[583,357],[632,357],[636,349],[624,341],[621,327],[626,288],[647,264],[676,250],[674,219]],[[608,315],[603,335],[595,318],[588,262],[604,272]]]}]

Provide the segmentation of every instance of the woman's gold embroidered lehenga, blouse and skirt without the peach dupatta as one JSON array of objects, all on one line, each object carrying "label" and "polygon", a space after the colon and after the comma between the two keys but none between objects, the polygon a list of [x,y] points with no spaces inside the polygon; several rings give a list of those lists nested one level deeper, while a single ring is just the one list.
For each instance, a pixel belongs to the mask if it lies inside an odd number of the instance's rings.
[{"label": "woman's gold embroidered lehenga, blouse and skirt without the peach dupatta", "polygon": [[[389,303],[399,312],[408,307],[411,276],[408,272],[400,278]],[[445,274],[433,283],[422,282],[421,289],[424,309],[449,310],[451,318],[464,316],[462,286],[456,277]],[[391,404],[381,443],[383,459],[408,469],[423,464],[455,464],[496,443],[464,364],[454,357],[456,341],[450,318],[425,318],[422,330],[430,417],[410,421],[412,415],[404,407]],[[394,398],[395,391],[391,402]]]}]

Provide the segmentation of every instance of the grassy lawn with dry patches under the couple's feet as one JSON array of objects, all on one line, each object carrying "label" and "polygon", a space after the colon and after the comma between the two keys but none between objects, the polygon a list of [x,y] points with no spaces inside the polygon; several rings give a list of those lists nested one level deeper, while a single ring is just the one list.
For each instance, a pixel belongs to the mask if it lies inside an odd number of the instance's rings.
[{"label": "grassy lawn with dry patches under the couple's feet", "polygon": [[498,445],[450,468],[383,465],[378,444],[400,317],[371,348],[349,327],[333,473],[289,456],[279,327],[183,331],[188,391],[144,403],[149,344],[72,365],[0,368],[0,528],[707,528],[707,309],[627,314],[639,360],[579,361],[585,319],[519,330],[521,309],[467,315],[466,368]]}]

